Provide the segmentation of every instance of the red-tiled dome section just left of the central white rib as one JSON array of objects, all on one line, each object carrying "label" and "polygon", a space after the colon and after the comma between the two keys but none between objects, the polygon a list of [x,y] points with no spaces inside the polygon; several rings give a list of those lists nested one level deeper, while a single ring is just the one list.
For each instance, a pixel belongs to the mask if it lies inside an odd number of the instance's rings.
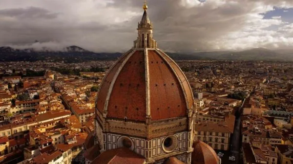
[{"label": "red-tiled dome section just left of the central white rib", "polygon": [[144,51],[136,51],[114,82],[109,98],[109,118],[146,120],[146,82]]}]

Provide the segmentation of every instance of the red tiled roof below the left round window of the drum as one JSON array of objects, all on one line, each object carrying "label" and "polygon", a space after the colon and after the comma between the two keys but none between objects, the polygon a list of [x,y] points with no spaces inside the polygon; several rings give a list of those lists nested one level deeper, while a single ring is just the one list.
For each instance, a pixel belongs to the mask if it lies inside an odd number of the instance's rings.
[{"label": "red tiled roof below the left round window of the drum", "polygon": [[91,164],[144,164],[145,158],[128,148],[104,151]]}]

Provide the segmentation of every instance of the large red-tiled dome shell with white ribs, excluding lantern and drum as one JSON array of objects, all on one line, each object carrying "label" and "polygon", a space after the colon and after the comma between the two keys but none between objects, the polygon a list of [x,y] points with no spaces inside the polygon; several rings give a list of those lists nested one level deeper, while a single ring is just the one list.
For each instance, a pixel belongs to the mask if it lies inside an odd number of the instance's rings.
[{"label": "large red-tiled dome shell with white ribs, excluding lantern and drum", "polygon": [[188,115],[193,95],[179,66],[159,49],[131,49],[110,68],[96,107],[107,118],[163,120]]}]

